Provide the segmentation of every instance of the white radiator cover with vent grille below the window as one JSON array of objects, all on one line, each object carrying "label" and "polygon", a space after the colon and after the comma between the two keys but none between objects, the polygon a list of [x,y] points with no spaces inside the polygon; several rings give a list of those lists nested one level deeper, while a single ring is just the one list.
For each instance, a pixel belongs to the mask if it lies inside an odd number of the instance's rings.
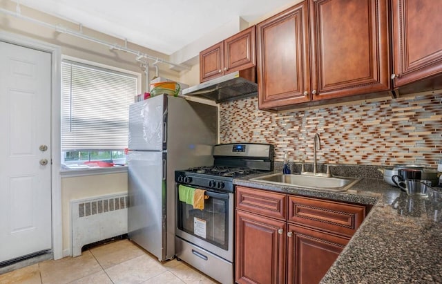
[{"label": "white radiator cover with vent grille below the window", "polygon": [[84,245],[127,234],[127,208],[127,193],[71,200],[71,255],[80,256]]}]

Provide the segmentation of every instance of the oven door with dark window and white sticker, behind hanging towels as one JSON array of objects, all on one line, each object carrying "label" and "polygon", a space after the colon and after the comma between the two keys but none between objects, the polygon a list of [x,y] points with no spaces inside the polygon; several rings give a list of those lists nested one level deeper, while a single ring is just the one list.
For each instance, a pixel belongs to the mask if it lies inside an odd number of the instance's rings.
[{"label": "oven door with dark window and white sticker, behind hanging towels", "polygon": [[176,235],[233,262],[233,193],[204,190],[209,198],[202,210],[176,198]]}]

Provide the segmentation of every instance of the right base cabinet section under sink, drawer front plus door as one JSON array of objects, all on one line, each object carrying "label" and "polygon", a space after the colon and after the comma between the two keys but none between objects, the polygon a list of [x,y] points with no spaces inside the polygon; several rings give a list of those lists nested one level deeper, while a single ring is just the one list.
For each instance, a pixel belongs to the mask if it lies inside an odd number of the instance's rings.
[{"label": "right base cabinet section under sink, drawer front plus door", "polygon": [[367,214],[365,205],[288,196],[287,283],[319,283]]}]

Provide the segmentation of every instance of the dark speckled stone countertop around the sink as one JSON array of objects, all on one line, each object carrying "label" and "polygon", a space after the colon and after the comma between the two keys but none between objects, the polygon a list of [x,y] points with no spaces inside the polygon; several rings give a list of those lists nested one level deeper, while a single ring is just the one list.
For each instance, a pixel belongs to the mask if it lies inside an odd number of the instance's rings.
[{"label": "dark speckled stone countertop around the sink", "polygon": [[250,180],[256,176],[233,182],[373,206],[321,283],[442,283],[441,203],[407,196],[378,178],[363,178],[348,191],[333,192]]}]

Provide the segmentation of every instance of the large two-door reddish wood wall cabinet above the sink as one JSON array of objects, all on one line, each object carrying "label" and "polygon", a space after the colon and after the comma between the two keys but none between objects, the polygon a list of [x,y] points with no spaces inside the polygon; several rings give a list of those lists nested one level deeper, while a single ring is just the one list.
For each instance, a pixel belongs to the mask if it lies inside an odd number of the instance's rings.
[{"label": "large two-door reddish wood wall cabinet above the sink", "polygon": [[390,91],[387,0],[302,1],[256,25],[259,108]]}]

